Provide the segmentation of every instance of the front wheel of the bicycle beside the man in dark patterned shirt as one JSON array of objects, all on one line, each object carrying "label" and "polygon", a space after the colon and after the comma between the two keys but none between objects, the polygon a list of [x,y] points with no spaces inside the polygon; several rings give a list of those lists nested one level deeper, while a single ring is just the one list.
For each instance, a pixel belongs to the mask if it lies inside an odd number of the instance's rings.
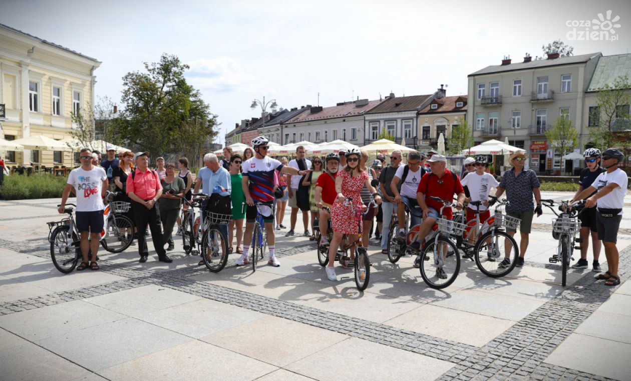
[{"label": "front wheel of the bicycle beside the man in dark patterned shirt", "polygon": [[[478,239],[473,253],[475,263],[484,275],[499,278],[515,268],[519,257],[519,246],[507,232],[489,230]],[[510,264],[500,266],[504,263],[504,258],[508,258]]]}]

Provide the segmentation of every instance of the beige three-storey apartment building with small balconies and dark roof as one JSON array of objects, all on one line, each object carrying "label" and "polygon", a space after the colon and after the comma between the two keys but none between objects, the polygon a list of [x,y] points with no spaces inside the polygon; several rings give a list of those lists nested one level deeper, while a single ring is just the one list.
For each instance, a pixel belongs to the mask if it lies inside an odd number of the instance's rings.
[{"label": "beige three-storey apartment building with small balconies and dark roof", "polygon": [[[561,169],[562,152],[546,140],[559,117],[567,117],[581,128],[587,124],[584,113],[585,89],[598,64],[600,53],[545,59],[510,59],[468,76],[467,120],[473,126],[475,143],[489,139],[504,141],[525,149],[531,169],[544,173]],[[584,134],[579,148],[585,144]]]}]

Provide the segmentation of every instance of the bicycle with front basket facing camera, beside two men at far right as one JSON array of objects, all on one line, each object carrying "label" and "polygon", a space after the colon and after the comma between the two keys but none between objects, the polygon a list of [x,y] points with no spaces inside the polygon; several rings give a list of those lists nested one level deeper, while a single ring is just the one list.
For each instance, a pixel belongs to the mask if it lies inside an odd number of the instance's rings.
[{"label": "bicycle with front basket facing camera, beside two men at far right", "polygon": [[579,200],[570,203],[569,200],[559,202],[561,213],[557,213],[553,206],[553,200],[541,200],[541,204],[550,208],[552,213],[558,217],[552,219],[552,237],[558,240],[557,254],[548,259],[550,263],[561,262],[561,285],[565,287],[567,283],[567,270],[572,261],[572,252],[574,249],[581,249],[580,246],[575,247],[574,242],[582,243],[582,239],[576,238],[581,232],[581,222],[577,219],[578,215],[584,210],[584,201]]}]

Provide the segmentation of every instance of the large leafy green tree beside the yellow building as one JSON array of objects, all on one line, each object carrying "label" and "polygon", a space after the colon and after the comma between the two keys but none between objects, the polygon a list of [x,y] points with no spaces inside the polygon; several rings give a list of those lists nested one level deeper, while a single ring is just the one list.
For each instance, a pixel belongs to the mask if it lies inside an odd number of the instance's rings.
[{"label": "large leafy green tree beside the yellow building", "polygon": [[197,154],[215,138],[217,122],[201,93],[186,82],[189,66],[175,55],[162,54],[160,62],[145,62],[144,69],[123,77],[124,111],[117,133],[153,156]]}]

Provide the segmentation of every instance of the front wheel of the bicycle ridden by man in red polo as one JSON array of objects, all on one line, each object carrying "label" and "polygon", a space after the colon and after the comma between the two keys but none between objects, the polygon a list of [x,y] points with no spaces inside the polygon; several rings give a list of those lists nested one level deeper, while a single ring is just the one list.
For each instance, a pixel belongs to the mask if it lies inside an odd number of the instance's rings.
[{"label": "front wheel of the bicycle ridden by man in red polo", "polygon": [[445,288],[454,283],[460,271],[460,256],[454,242],[439,237],[436,244],[430,239],[425,244],[421,258],[424,258],[421,260],[421,276],[429,287]]}]

